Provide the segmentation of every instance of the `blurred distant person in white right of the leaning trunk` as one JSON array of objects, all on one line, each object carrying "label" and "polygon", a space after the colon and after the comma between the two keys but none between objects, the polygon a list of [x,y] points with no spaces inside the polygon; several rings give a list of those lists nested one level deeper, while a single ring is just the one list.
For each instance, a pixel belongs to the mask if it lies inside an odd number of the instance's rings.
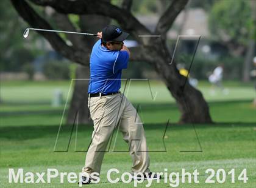
[{"label": "blurred distant person in white right of the leaning trunk", "polygon": [[218,65],[218,67],[216,67],[213,70],[213,73],[208,78],[209,82],[212,84],[212,89],[210,91],[212,95],[215,95],[215,87],[218,87],[219,89],[221,89],[221,91],[225,95],[229,94],[229,90],[225,89],[222,85],[223,71],[224,71],[224,65],[223,64]]}]

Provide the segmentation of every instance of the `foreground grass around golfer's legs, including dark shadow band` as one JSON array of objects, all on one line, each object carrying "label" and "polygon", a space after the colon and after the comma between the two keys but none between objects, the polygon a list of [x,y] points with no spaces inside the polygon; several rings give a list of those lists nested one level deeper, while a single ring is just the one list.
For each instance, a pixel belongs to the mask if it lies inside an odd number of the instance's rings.
[{"label": "foreground grass around golfer's legs, including dark shadow band", "polygon": [[[146,138],[149,150],[164,151],[162,136],[165,130],[164,124],[145,124]],[[24,168],[25,172],[44,172],[47,168],[56,168],[60,172],[79,173],[84,164],[85,152],[74,152],[75,133],[71,139],[68,152],[53,152],[55,138],[59,126],[27,126],[27,127],[2,127],[0,130],[1,138],[1,184],[2,187],[34,187],[35,184],[9,184],[7,180],[8,169],[19,167]],[[71,127],[61,129],[57,150],[66,150]],[[79,126],[77,132],[76,150],[86,150],[90,143],[92,128]],[[197,125],[196,132],[202,146],[200,153],[181,153],[181,150],[200,150],[196,135],[191,125],[171,125],[165,134],[166,152],[149,153],[151,156],[151,169],[155,172],[180,172],[185,168],[188,172],[194,169],[199,170],[201,176],[200,187],[209,187],[204,183],[205,170],[213,168],[215,170],[223,168],[228,172],[235,168],[240,173],[242,169],[247,169],[249,181],[243,184],[236,181],[230,183],[227,177],[226,183],[221,187],[254,187],[256,184],[256,152],[255,135],[256,127],[254,124],[218,124],[214,126]],[[121,135],[118,134],[116,150],[127,150]],[[110,151],[113,150],[113,144]],[[106,173],[113,167],[121,172],[129,172],[131,159],[127,152],[105,153],[102,166],[101,183],[94,187],[131,187],[131,184],[110,184],[107,182]],[[144,187],[143,183],[140,187]],[[52,184],[40,184],[40,187],[74,187],[76,184],[59,184],[53,181]],[[154,187],[166,187],[163,180],[160,184],[154,183]],[[196,186],[194,184],[194,186]],[[213,184],[218,187],[219,184]],[[92,186],[91,186],[92,187]],[[189,184],[181,187],[189,187]]]}]

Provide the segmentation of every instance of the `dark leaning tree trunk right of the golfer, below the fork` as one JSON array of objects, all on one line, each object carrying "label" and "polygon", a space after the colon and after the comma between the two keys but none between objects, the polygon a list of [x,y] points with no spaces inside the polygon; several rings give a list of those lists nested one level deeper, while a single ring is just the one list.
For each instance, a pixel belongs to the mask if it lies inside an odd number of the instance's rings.
[{"label": "dark leaning tree trunk right of the golfer, below the fork", "polygon": [[[157,46],[157,41],[153,42]],[[162,45],[163,46],[163,45]],[[153,47],[154,48],[154,47]],[[169,92],[176,99],[182,116],[179,123],[213,123],[209,107],[202,93],[192,87],[188,80],[179,74],[176,62],[169,65],[171,55],[166,46],[160,51],[148,49],[149,60],[159,75],[162,76]],[[156,52],[156,53],[152,53]]]}]

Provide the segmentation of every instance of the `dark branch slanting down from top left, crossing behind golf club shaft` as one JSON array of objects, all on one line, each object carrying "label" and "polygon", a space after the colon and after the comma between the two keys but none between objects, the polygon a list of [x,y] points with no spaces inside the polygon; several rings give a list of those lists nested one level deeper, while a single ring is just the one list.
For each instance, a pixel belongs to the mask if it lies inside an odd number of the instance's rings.
[{"label": "dark branch slanting down from top left, crossing behind golf club shaft", "polygon": [[[11,0],[13,7],[20,14],[20,16],[29,23],[30,26],[38,29],[52,29],[51,25],[48,24],[41,16],[39,16],[35,10],[30,7],[24,0]],[[85,59],[88,59],[89,54],[84,50],[75,50],[73,47],[66,45],[65,41],[57,33],[52,32],[39,32],[44,38],[46,38],[52,47],[65,56],[71,61],[85,65]],[[82,54],[81,54],[82,53]]]}]

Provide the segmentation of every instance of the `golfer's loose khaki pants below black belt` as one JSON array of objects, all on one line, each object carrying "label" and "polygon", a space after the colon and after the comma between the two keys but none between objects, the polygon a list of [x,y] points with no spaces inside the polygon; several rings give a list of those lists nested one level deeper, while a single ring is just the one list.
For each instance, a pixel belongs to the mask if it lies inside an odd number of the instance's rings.
[{"label": "golfer's loose khaki pants below black belt", "polygon": [[[88,98],[94,124],[92,142],[82,172],[101,172],[101,164],[113,130],[118,128],[130,146],[132,172],[149,172],[149,155],[143,124],[137,110],[122,93]],[[112,142],[114,139],[112,140]],[[114,162],[114,161],[113,161]]]}]

